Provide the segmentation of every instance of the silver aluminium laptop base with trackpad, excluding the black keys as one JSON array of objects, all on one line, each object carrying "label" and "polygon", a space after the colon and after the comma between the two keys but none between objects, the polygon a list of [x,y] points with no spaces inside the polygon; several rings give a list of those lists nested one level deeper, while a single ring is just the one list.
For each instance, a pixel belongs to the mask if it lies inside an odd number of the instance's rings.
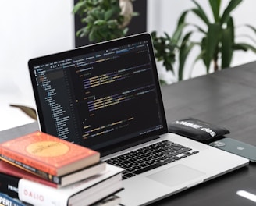
[{"label": "silver aluminium laptop base with trackpad, excluding the black keys", "polygon": [[[123,205],[151,204],[248,164],[246,158],[220,151],[215,147],[201,144],[174,133],[165,133],[159,138],[159,140],[166,139],[194,148],[199,153],[189,158],[172,162],[169,165],[141,173],[138,176],[133,176],[130,179],[124,179],[125,190],[118,194],[122,199]],[[126,151],[148,144],[150,143],[142,144]],[[112,156],[113,154],[107,158]]]}]

